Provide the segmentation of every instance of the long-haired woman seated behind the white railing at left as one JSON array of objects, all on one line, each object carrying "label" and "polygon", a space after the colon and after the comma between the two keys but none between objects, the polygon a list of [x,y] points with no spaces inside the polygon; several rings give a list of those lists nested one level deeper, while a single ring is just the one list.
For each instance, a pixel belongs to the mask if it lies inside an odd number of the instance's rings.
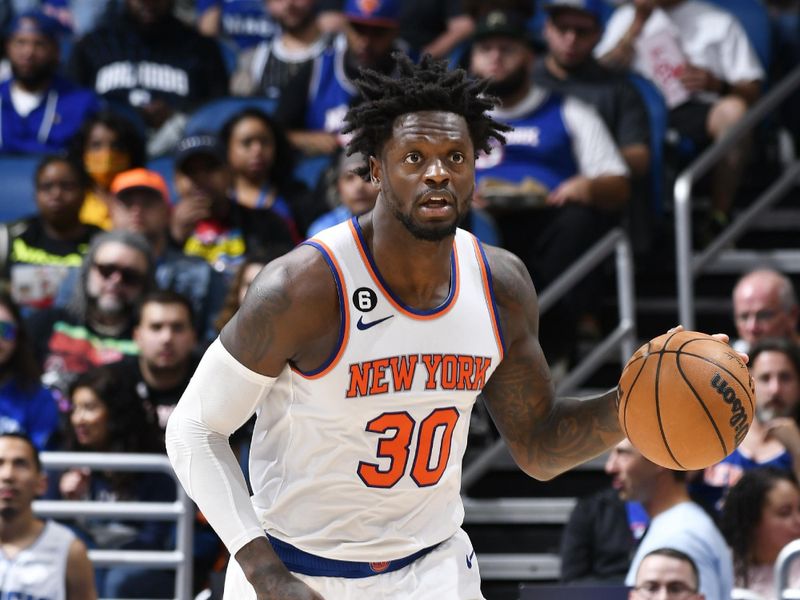
[{"label": "long-haired woman seated behind the white railing at left", "polygon": [[[141,403],[109,367],[78,376],[70,386],[70,426],[65,450],[104,453],[161,453],[164,444]],[[171,502],[175,484],[164,473],[91,472],[70,469],[58,479],[57,497],[65,500]],[[108,521],[78,518],[76,532],[90,548],[167,550],[168,521]],[[171,598],[171,571],[142,567],[106,567],[96,573],[101,598]]]}]

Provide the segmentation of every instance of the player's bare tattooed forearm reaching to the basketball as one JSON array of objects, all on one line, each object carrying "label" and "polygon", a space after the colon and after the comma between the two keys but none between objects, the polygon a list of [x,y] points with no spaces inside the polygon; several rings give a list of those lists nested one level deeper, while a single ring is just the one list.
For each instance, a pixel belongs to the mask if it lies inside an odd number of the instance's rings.
[{"label": "player's bare tattooed forearm reaching to the basketball", "polygon": [[526,472],[552,479],[599,456],[625,436],[616,409],[617,389],[585,399],[559,398],[531,432]]}]

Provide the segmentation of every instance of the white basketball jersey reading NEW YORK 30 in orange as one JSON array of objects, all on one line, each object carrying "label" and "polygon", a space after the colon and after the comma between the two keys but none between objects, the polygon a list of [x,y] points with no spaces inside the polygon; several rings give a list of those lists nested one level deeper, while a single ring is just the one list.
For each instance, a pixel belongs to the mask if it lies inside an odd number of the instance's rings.
[{"label": "white basketball jersey reading NEW YORK 30 in orange", "polygon": [[250,456],[267,533],[325,558],[389,561],[453,535],[475,399],[502,359],[491,274],[458,230],[450,294],[432,310],[387,288],[353,219],[308,242],[328,262],[341,329],[313,373],[287,367]]}]

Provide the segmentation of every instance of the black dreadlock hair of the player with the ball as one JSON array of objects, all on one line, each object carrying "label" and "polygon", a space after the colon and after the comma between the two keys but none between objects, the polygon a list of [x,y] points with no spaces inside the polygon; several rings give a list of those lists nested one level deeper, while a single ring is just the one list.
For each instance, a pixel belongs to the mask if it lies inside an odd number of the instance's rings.
[{"label": "black dreadlock hair of the player with the ball", "polygon": [[[348,155],[361,152],[364,156],[379,156],[397,117],[429,110],[464,117],[476,152],[489,152],[491,138],[505,143],[502,132],[512,128],[486,114],[497,104],[496,98],[485,94],[486,80],[470,79],[463,69],[450,71],[446,60],[436,60],[429,54],[418,65],[402,52],[394,52],[392,58],[398,76],[361,69],[355,81],[361,102],[348,111],[342,129],[342,133],[353,133]],[[355,172],[366,178],[369,167]]]}]

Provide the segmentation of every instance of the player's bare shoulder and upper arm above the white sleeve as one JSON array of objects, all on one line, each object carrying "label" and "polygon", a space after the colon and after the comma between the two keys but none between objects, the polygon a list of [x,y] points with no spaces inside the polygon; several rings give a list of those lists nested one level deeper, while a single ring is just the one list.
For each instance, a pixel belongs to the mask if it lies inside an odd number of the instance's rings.
[{"label": "player's bare shoulder and upper arm above the white sleeve", "polygon": [[298,246],[272,261],[222,330],[222,343],[250,369],[275,376],[287,362],[313,370],[336,343],[339,300],[322,254]]}]

